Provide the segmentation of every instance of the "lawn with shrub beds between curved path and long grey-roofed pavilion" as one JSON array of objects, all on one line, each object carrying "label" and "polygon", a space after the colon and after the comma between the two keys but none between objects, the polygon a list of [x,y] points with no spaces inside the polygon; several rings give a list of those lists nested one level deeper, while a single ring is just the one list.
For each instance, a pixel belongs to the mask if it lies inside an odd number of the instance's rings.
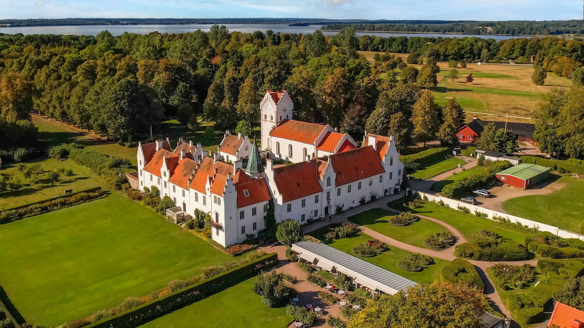
[{"label": "lawn with shrub beds between curved path and long grey-roofed pavilion", "polygon": [[[324,227],[326,228],[326,227]],[[323,228],[317,229],[309,233],[309,235],[314,236],[315,238],[323,240],[327,245],[335,247],[336,249],[342,250],[345,253],[353,254],[353,247],[357,246],[358,244],[367,242],[367,240],[373,239],[373,237],[366,235],[362,232],[357,233],[351,238],[342,238],[342,239],[335,239],[335,240],[325,240],[322,237],[322,232],[324,231]],[[393,273],[399,274],[403,277],[406,277],[410,280],[416,282],[433,282],[434,280],[440,280],[440,273],[442,272],[442,268],[449,263],[449,261],[441,260],[441,259],[434,259],[435,264],[431,264],[424,268],[424,270],[420,272],[410,272],[402,270],[398,267],[398,262],[403,260],[406,256],[408,256],[409,252],[407,250],[389,246],[390,250],[387,252],[378,254],[374,257],[367,257],[363,260],[366,260],[370,263],[375,264],[376,266],[385,268],[390,270]]]}]

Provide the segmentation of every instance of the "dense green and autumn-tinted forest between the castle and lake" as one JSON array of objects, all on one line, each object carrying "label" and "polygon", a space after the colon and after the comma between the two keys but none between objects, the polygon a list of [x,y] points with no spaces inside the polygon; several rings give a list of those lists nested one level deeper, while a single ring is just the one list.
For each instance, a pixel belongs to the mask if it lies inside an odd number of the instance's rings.
[{"label": "dense green and autumn-tinted forest between the castle and lake", "polygon": [[[412,53],[408,62],[427,62],[419,74],[402,74],[398,81],[393,70],[405,67],[401,58],[385,54],[369,65],[359,49]],[[207,33],[117,37],[107,31],[96,37],[4,34],[0,156],[19,160],[34,148],[31,112],[131,142],[156,131],[164,116],[176,115],[193,129],[197,116],[215,121],[217,130],[234,128],[242,119],[255,125],[268,89],[288,90],[298,120],[329,123],[356,140],[367,129],[397,136],[401,148],[437,135],[447,144],[456,142],[451,130],[463,114],[444,122],[451,116],[444,113],[460,113],[460,106],[453,101],[443,113],[431,93],[420,89],[436,85],[435,61],[537,53],[545,56],[546,69],[569,76],[581,65],[584,43],[557,37],[357,38],[352,29],[328,37],[320,31],[230,33],[217,25]],[[388,78],[379,79],[381,72]],[[438,131],[441,125],[446,130]]]}]

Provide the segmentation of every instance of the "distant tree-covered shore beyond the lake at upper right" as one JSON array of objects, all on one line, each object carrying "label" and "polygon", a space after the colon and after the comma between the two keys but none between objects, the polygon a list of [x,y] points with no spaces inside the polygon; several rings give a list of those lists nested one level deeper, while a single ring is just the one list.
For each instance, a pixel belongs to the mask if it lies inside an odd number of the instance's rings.
[{"label": "distant tree-covered shore beyond the lake at upper right", "polygon": [[[340,30],[353,27],[358,31],[440,32],[464,34],[548,35],[583,34],[582,20],[505,20],[499,22],[449,23],[336,23],[322,26],[322,30]],[[489,27],[487,29],[486,27]]]}]

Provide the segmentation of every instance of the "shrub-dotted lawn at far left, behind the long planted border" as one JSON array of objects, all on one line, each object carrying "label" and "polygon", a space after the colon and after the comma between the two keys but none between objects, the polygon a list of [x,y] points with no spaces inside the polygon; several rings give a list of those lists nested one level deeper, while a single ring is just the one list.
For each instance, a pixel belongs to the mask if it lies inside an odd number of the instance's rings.
[{"label": "shrub-dotted lawn at far left, behind the long planted border", "polygon": [[[58,169],[71,169],[74,176],[61,176],[58,182],[52,182],[47,179],[46,173],[41,175],[43,180],[36,186],[25,186],[19,191],[11,191],[2,194],[0,197],[0,211],[7,208],[18,207],[21,205],[36,203],[38,201],[48,200],[53,196],[60,196],[64,194],[67,189],[72,189],[73,192],[99,187],[101,182],[91,170],[85,166],[78,165],[72,160],[65,160],[61,162],[56,159],[41,160],[39,163],[44,170],[54,171]],[[29,165],[32,163],[28,163]],[[0,170],[0,175],[20,176],[16,166],[8,169]],[[24,180],[26,182],[26,180]]]}]

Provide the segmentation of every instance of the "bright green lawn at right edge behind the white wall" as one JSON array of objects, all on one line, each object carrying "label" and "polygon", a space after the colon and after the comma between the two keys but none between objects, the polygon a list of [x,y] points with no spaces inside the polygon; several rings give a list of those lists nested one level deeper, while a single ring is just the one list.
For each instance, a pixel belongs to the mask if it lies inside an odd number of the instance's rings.
[{"label": "bright green lawn at right edge behind the white wall", "polygon": [[511,198],[503,210],[518,217],[584,233],[584,180],[563,176],[554,184],[565,187],[547,195]]}]

